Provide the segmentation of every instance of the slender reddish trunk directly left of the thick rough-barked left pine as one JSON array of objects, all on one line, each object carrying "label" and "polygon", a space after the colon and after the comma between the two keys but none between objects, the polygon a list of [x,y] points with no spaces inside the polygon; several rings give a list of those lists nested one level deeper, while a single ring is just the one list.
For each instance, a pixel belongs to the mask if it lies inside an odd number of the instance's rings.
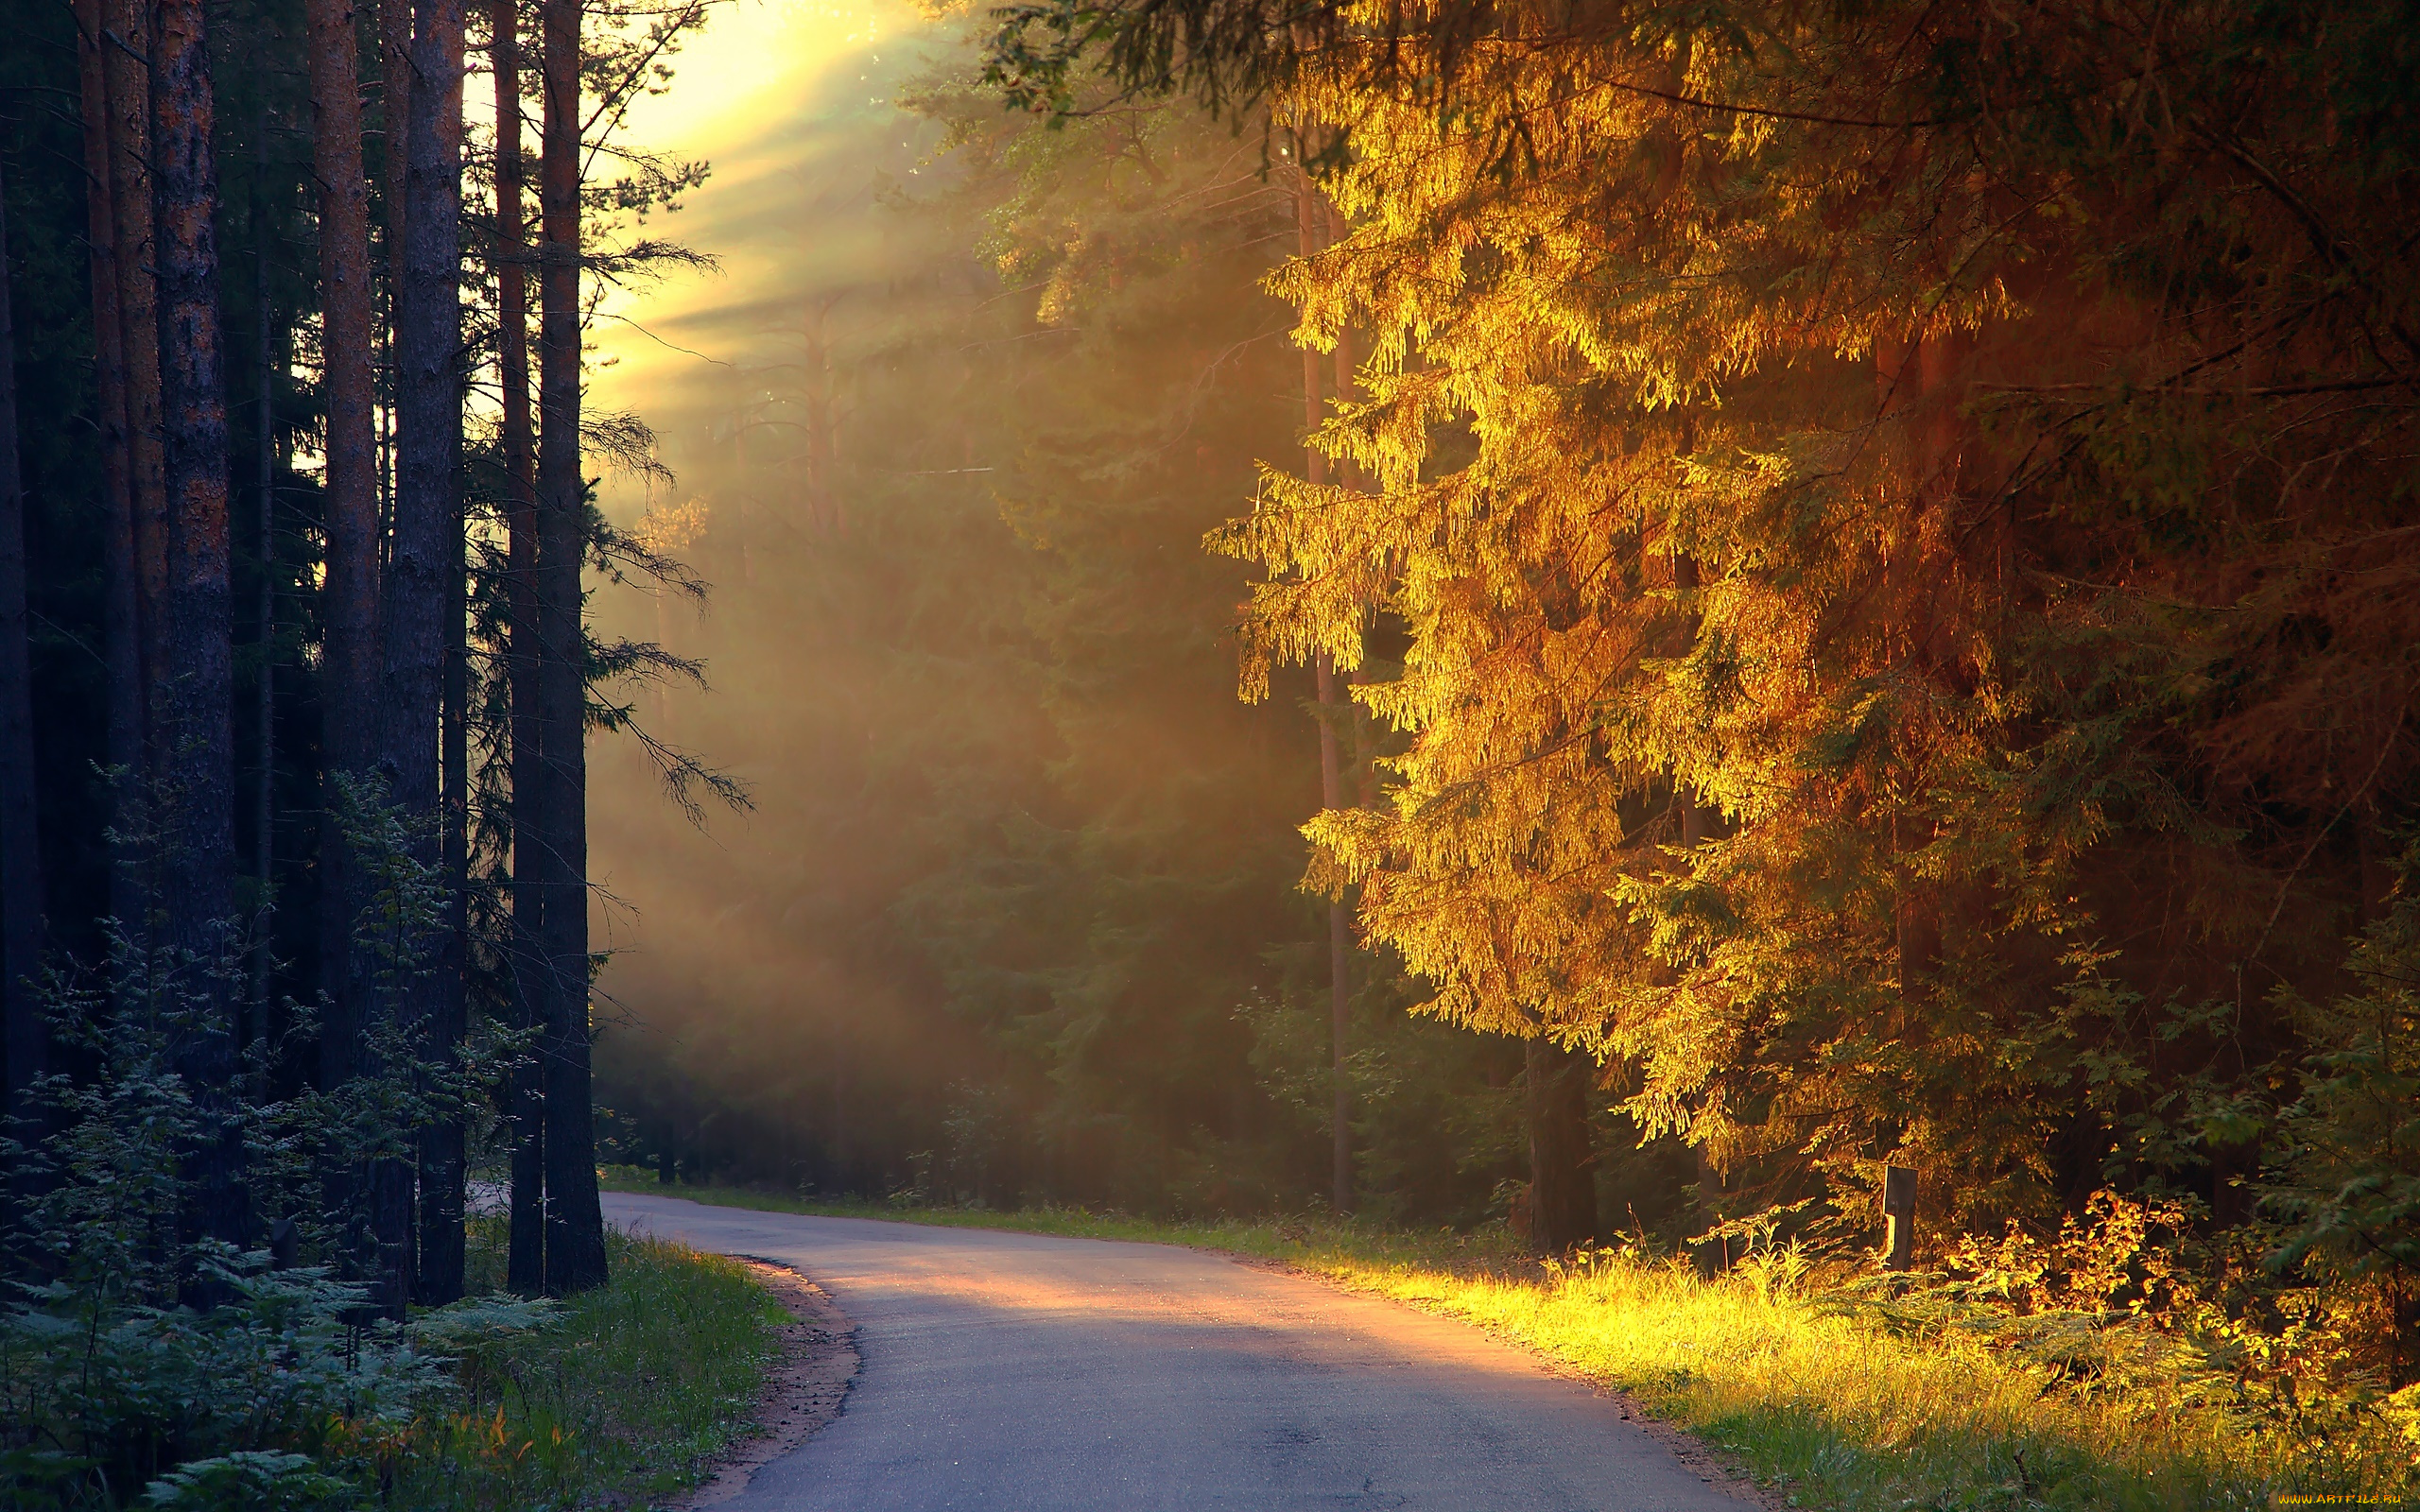
[{"label": "slender reddish trunk directly left of the thick rough-barked left pine", "polygon": [[[126,462],[128,503],[133,510],[133,588],[136,653],[140,660],[138,704],[143,711],[143,764],[128,774],[138,806],[128,835],[150,830],[152,784],[160,777],[160,682],[167,668],[167,469],[162,457],[160,414],[160,281],[155,276],[157,215],[152,208],[152,56],[150,0],[104,0],[111,41],[102,48],[109,85],[109,203],[116,218],[111,254],[119,283],[119,341],[126,358]],[[150,934],[150,907],[157,878],[150,876],[148,847],[128,861],[143,861],[138,912],[126,914],[128,929]]]}]

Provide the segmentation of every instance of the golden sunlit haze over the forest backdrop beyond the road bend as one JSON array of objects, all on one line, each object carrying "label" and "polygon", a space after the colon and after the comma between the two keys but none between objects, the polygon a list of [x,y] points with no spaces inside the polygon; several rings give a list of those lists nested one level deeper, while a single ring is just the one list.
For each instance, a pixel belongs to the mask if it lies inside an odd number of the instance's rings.
[{"label": "golden sunlit haze over the forest backdrop beyond the road bend", "polygon": [[[595,392],[670,474],[610,474],[607,513],[711,595],[603,585],[593,612],[704,663],[711,692],[634,714],[750,796],[699,791],[692,823],[641,743],[593,757],[607,1154],[818,1193],[1312,1200],[1309,677],[1239,702],[1249,576],[1203,549],[1258,460],[1300,467],[1302,356],[1258,288],[1290,177],[1179,111],[1007,116],[958,22],[849,24],[794,92],[753,85],[765,109],[649,140],[711,160],[666,227],[721,271],[598,324]],[[1517,1045],[1408,1021],[1384,973],[1355,989],[1365,1181],[1483,1217],[1525,1168]]]}]

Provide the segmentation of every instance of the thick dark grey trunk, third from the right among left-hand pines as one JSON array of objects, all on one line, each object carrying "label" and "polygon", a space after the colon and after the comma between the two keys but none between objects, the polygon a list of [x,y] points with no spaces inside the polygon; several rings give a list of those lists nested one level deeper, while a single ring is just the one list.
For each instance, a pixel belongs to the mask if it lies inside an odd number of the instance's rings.
[{"label": "thick dark grey trunk, third from the right among left-hand pines", "polygon": [[[419,859],[443,876],[450,825],[440,810],[448,646],[460,639],[462,581],[462,0],[419,0],[404,109],[404,266],[394,322],[394,537],[387,561],[385,760]],[[455,627],[448,629],[448,612]],[[443,881],[450,881],[443,878]],[[448,922],[460,893],[445,900]],[[419,941],[436,953],[421,1028],[428,1060],[453,1060],[460,958],[453,931]],[[448,1130],[453,1135],[448,1137]],[[416,1302],[462,1292],[462,1142],[438,1120],[421,1135],[421,1256]],[[436,1241],[431,1246],[431,1239]]]}]

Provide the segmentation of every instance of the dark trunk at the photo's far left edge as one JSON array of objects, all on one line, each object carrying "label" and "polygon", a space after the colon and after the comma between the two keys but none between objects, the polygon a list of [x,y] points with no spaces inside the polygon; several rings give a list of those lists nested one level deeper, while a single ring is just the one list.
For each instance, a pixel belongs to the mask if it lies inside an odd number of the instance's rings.
[{"label": "dark trunk at the photo's far left edge", "polygon": [[[0,1018],[12,1137],[36,1132],[34,1081],[51,1033],[34,989],[41,970],[41,830],[34,806],[34,668],[24,636],[24,486],[17,469],[17,329],[7,278],[7,184],[0,181]],[[24,1171],[12,1173],[22,1190]]]}]

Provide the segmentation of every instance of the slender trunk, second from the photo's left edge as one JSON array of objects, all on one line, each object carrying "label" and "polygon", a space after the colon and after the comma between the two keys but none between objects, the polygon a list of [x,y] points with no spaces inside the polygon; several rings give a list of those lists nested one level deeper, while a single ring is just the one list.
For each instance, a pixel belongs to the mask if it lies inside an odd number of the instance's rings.
[{"label": "slender trunk, second from the photo's left edge", "polygon": [[[102,0],[75,0],[75,63],[85,116],[85,247],[92,283],[92,377],[102,431],[102,660],[109,668],[106,760],[119,772],[109,823],[140,827],[143,648],[136,622],[133,462],[126,428],[126,331],[119,312],[119,230],[109,128],[109,39]],[[143,922],[133,868],[109,868],[109,912],[123,927]]]}]

